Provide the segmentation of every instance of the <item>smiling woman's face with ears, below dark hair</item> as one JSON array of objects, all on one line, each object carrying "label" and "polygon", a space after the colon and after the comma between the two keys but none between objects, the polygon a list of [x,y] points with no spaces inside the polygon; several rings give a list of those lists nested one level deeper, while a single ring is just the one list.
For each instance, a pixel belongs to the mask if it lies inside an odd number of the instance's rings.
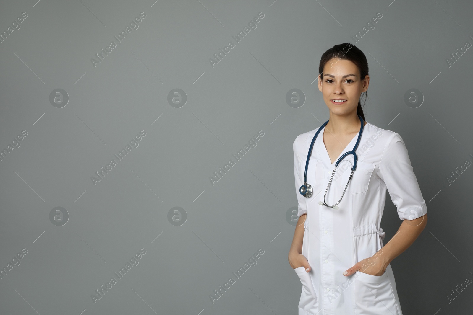
[{"label": "smiling woman's face with ears, below dark hair", "polygon": [[[361,93],[368,90],[369,76],[361,80],[358,67],[353,62],[338,58],[325,64],[323,75],[322,78],[319,75],[318,86],[330,112],[342,116],[356,112]],[[335,102],[335,99],[345,101]]]}]

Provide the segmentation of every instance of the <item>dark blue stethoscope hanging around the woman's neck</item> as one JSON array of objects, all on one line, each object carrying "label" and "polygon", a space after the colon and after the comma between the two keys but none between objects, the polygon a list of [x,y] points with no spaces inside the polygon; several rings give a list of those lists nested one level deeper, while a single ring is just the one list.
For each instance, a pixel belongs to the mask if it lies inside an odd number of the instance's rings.
[{"label": "dark blue stethoscope hanging around the woman's neck", "polygon": [[[345,195],[345,191],[347,190],[348,184],[350,183],[350,180],[353,177],[353,172],[356,170],[356,163],[358,161],[358,156],[355,153],[355,151],[358,147],[359,140],[361,138],[361,134],[363,133],[363,127],[364,127],[363,126],[364,125],[363,119],[361,118],[360,115],[358,115],[358,117],[359,117],[359,121],[361,122],[361,127],[359,128],[359,134],[358,134],[358,139],[356,141],[356,144],[353,147],[353,150],[343,153],[342,156],[335,163],[335,168],[333,169],[332,177],[330,178],[330,181],[328,182],[327,189],[325,189],[324,202],[322,202],[322,201],[319,202],[320,205],[324,205],[324,206],[327,206],[329,208],[333,208],[334,210],[338,209],[337,204],[339,204],[342,201],[343,195]],[[312,195],[312,192],[313,192],[312,186],[310,186],[310,184],[307,184],[307,167],[309,166],[310,154],[312,153],[312,147],[314,146],[315,139],[317,138],[319,132],[325,127],[325,125],[327,123],[328,123],[328,120],[325,121],[325,123],[317,130],[317,132],[315,133],[314,138],[312,139],[312,142],[310,143],[309,152],[307,153],[306,170],[304,171],[304,185],[302,185],[299,188],[300,194],[304,197],[307,197],[307,198],[310,197]],[[348,179],[347,185],[345,186],[345,190],[343,190],[343,194],[340,197],[340,200],[334,205],[328,205],[325,201],[325,195],[327,195],[328,187],[330,187],[330,183],[332,182],[333,175],[335,174],[335,171],[337,170],[338,164],[343,160],[343,158],[345,158],[345,156],[347,156],[349,154],[353,154],[353,166],[351,167],[350,178]]]}]

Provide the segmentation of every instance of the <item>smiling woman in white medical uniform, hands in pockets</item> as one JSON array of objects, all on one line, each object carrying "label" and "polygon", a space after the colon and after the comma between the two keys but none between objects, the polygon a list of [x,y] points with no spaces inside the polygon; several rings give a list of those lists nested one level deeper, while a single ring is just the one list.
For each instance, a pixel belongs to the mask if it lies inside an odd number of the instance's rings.
[{"label": "smiling woman in white medical uniform, hands in pockets", "polygon": [[[401,136],[364,121],[359,100],[369,76],[363,52],[350,43],[335,45],[322,55],[319,73],[330,118],[313,144],[308,197],[299,189],[306,184],[307,154],[319,128],[297,136],[293,144],[299,219],[288,258],[303,284],[298,314],[402,315],[390,262],[424,229],[425,201]],[[353,154],[333,170],[357,143],[357,165],[349,181]],[[386,189],[403,222],[383,246]],[[340,196],[340,203],[330,207]]]}]

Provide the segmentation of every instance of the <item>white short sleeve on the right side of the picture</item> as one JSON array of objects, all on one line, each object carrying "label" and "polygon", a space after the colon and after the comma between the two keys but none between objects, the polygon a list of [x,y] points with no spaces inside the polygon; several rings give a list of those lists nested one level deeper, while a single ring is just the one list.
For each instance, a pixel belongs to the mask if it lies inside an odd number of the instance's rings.
[{"label": "white short sleeve on the right side of the picture", "polygon": [[403,138],[394,133],[386,143],[377,175],[385,182],[401,220],[413,220],[427,213],[417,178]]}]

